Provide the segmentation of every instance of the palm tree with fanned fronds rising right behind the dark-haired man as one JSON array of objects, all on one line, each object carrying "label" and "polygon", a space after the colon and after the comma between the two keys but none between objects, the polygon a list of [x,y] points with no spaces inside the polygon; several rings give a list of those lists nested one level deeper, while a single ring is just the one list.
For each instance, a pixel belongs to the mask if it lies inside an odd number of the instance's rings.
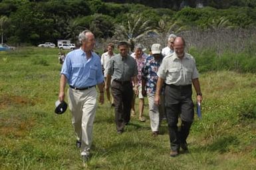
[{"label": "palm tree with fanned fronds rising right behind the dark-haired man", "polygon": [[145,21],[140,15],[130,14],[128,15],[127,25],[116,25],[114,39],[130,42],[131,50],[133,51],[134,44],[150,32],[156,32],[150,26],[150,20]]}]

